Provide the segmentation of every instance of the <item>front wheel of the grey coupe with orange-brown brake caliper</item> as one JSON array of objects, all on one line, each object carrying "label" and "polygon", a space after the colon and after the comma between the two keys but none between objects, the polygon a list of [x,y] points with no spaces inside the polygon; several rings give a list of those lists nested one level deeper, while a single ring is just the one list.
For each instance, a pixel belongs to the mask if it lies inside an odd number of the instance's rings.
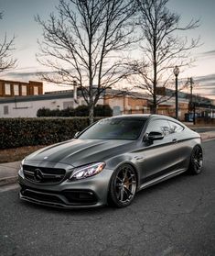
[{"label": "front wheel of the grey coupe with orange-brown brake caliper", "polygon": [[120,166],[112,176],[109,203],[116,207],[128,206],[134,200],[136,192],[136,173],[129,164]]}]

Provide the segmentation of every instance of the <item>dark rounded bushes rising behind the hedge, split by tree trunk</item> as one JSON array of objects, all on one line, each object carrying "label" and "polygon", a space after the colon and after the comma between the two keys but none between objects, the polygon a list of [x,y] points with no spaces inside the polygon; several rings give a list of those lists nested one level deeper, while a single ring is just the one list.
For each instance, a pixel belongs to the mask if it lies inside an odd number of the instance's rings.
[{"label": "dark rounded bushes rising behind the hedge, split by tree trunk", "polygon": [[[112,117],[113,110],[109,105],[97,105],[94,108],[95,117]],[[37,117],[89,117],[89,107],[82,105],[76,108],[68,107],[66,109],[39,108]]]}]

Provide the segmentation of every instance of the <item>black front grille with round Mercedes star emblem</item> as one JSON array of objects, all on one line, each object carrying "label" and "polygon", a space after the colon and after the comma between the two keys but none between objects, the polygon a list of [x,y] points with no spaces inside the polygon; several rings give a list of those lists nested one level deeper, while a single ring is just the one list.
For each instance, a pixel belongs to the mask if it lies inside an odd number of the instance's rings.
[{"label": "black front grille with round Mercedes star emblem", "polygon": [[36,167],[23,165],[23,173],[27,180],[38,184],[59,184],[66,171],[59,168]]}]

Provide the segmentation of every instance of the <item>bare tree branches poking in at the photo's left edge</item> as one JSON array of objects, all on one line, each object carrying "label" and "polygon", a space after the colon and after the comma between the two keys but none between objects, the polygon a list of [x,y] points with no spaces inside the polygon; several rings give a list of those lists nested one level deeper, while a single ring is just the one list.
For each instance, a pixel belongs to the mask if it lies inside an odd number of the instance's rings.
[{"label": "bare tree branches poking in at the photo's left edge", "polygon": [[[0,12],[0,19],[3,18],[3,12]],[[7,39],[5,34],[4,38],[0,41],[0,72],[14,68],[16,66],[16,60],[11,56],[11,50],[14,50],[15,37]]]}]

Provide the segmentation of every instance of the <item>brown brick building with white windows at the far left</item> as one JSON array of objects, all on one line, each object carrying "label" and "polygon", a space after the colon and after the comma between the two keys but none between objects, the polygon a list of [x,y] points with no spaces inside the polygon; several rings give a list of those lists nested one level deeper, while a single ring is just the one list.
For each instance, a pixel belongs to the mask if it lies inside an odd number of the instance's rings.
[{"label": "brown brick building with white windows at the far left", "polygon": [[14,97],[27,95],[42,95],[43,83],[29,81],[29,83],[0,80],[0,97]]}]

